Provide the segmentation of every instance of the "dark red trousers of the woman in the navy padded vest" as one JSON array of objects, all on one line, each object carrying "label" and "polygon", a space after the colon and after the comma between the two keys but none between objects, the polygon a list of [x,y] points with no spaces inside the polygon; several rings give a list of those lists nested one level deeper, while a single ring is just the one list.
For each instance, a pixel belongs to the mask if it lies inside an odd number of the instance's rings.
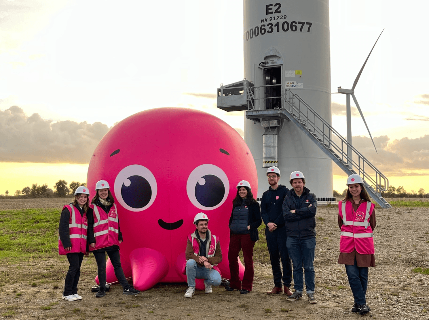
[{"label": "dark red trousers of the woman in the navy padded vest", "polygon": [[[253,247],[256,241],[250,239],[250,235],[231,235],[228,248],[228,262],[230,263],[231,282],[230,287],[237,290],[252,291],[253,287]],[[239,278],[239,262],[237,260],[240,250],[243,250],[244,276],[243,282]]]}]

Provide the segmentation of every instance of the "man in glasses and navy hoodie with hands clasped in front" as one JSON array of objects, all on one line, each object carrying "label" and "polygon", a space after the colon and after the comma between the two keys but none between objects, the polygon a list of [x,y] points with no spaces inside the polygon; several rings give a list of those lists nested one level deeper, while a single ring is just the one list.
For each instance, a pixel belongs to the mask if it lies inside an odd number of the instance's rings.
[{"label": "man in glasses and navy hoodie with hands clasped in front", "polygon": [[[286,228],[283,218],[283,199],[289,189],[279,185],[280,170],[270,167],[267,170],[269,188],[262,195],[261,216],[266,225],[265,237],[271,262],[274,288],[267,294],[281,293],[281,281],[284,284],[284,294],[291,296],[290,283],[292,282],[292,263],[286,247]],[[281,276],[280,259],[283,265],[283,279]]]}]

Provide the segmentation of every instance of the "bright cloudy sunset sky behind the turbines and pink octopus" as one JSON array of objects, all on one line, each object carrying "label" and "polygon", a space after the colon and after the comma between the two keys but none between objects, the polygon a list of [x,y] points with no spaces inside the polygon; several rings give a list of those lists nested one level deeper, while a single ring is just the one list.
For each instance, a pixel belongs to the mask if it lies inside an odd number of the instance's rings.
[{"label": "bright cloudy sunset sky behind the turbines and pink octopus", "polygon": [[[390,185],[429,192],[429,2],[329,8],[332,92],[351,88],[384,29],[355,88],[378,154],[352,103],[353,144]],[[103,135],[142,110],[203,110],[242,134],[243,113],[215,98],[243,78],[242,12],[241,0],[0,0],[0,194],[84,182]],[[332,94],[332,125],[345,136],[344,104]],[[344,181],[334,165],[334,189]]]}]

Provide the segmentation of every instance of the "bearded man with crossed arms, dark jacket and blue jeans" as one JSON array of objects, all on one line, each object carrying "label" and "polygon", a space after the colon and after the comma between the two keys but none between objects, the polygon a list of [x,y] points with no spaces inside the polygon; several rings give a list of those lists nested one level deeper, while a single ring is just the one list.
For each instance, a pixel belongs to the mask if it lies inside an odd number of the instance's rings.
[{"label": "bearded man with crossed arms, dark jacket and blue jeans", "polygon": [[317,303],[314,297],[314,251],[316,249],[317,198],[305,188],[305,177],[300,171],[290,174],[292,190],[283,201],[283,216],[286,221],[287,251],[293,262],[295,292],[287,301],[302,299],[305,271],[305,289],[308,302]]}]

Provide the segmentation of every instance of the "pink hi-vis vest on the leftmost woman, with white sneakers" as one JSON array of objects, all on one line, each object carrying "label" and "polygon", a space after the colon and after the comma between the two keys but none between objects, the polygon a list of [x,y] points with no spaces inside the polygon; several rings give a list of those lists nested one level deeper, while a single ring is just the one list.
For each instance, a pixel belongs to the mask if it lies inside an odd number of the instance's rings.
[{"label": "pink hi-vis vest on the leftmost woman, with white sneakers", "polygon": [[87,229],[88,229],[88,218],[86,217],[86,212],[83,216],[80,215],[78,209],[76,209],[72,204],[67,204],[63,207],[67,208],[70,213],[69,219],[69,234],[70,241],[72,243],[72,250],[66,251],[63,247],[63,243],[60,240],[58,235],[58,253],[60,255],[66,255],[67,253],[86,253],[86,239],[87,239]]}]

